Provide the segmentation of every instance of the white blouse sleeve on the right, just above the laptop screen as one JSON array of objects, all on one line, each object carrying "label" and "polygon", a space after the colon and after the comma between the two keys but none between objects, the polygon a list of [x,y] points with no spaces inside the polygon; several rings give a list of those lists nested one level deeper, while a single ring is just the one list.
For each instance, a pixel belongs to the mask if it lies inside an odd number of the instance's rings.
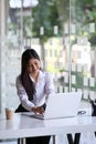
[{"label": "white blouse sleeve on the right, just above the laptop screen", "polygon": [[45,74],[45,93],[46,95],[55,93],[53,75],[50,72]]}]

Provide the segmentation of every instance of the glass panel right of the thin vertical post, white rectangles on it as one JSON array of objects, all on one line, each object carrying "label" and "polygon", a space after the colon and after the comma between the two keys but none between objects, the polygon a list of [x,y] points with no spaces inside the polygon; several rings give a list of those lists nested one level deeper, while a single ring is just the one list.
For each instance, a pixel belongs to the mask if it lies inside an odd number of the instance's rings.
[{"label": "glass panel right of the thin vertical post, white rectangles on it", "polygon": [[95,9],[95,0],[71,1],[72,91],[82,91],[84,100],[96,91]]}]

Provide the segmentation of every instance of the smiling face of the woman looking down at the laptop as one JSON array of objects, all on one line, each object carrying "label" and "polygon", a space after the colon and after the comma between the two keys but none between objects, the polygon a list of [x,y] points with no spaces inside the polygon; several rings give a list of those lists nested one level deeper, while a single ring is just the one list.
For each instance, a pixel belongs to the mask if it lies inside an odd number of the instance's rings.
[{"label": "smiling face of the woman looking down at the laptop", "polygon": [[41,63],[38,59],[30,59],[28,62],[28,73],[38,73],[41,68]]}]

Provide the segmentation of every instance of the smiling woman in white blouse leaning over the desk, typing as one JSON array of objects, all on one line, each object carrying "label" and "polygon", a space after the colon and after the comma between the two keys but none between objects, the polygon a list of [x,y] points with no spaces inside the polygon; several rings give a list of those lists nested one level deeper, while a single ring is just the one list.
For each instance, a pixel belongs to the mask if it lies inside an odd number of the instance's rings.
[{"label": "smiling woman in white blouse leaning over the desk, typing", "polygon": [[[26,49],[22,53],[17,90],[21,104],[15,112],[44,113],[47,96],[54,93],[53,78],[50,72],[41,70],[40,56],[33,49]],[[26,138],[26,144],[49,144],[50,137],[30,137]]]}]

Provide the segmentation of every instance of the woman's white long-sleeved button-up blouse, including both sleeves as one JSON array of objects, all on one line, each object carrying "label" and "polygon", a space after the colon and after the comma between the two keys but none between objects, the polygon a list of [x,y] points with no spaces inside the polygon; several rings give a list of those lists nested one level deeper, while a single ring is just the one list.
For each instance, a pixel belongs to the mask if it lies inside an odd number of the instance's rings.
[{"label": "woman's white long-sleeved button-up blouse, including both sleeves", "polygon": [[52,93],[54,94],[53,76],[46,71],[39,72],[38,82],[35,83],[35,94],[33,95],[32,101],[29,101],[29,96],[21,84],[19,76],[17,78],[17,91],[23,107],[31,111],[32,106],[40,106],[44,104],[47,96]]}]

